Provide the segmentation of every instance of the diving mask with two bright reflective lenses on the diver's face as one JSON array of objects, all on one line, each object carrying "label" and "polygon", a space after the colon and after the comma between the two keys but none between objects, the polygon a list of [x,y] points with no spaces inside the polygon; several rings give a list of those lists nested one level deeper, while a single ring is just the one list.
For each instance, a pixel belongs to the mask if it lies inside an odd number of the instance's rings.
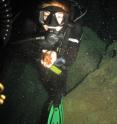
[{"label": "diving mask with two bright reflective lenses on the diver's face", "polygon": [[65,24],[66,13],[62,11],[43,10],[39,13],[39,21],[42,23],[44,29],[60,31]]}]

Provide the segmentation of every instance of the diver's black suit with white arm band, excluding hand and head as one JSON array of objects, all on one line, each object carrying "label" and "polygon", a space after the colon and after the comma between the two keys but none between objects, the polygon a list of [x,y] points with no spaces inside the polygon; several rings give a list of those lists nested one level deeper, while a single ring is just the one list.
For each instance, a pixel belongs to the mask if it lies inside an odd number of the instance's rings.
[{"label": "diver's black suit with white arm band, excluding hand and head", "polygon": [[[57,57],[63,58],[65,63],[63,65],[56,65],[62,70],[60,75],[55,74],[50,69],[44,68],[40,65],[40,79],[47,89],[50,99],[54,100],[55,105],[60,103],[60,99],[66,92],[67,67],[75,62],[81,37],[81,27],[78,24],[73,24],[61,31],[60,34],[65,34],[64,38],[52,48],[44,48],[47,50],[54,50],[57,52]],[[43,49],[43,48],[42,48]]]}]

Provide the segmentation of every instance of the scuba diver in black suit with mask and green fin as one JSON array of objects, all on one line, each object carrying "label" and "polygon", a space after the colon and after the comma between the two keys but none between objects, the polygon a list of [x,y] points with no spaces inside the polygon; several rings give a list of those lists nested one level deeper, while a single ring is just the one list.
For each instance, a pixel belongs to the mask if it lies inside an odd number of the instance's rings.
[{"label": "scuba diver in black suit with mask and green fin", "polygon": [[[46,1],[39,6],[38,19],[44,31],[40,39],[40,78],[48,91],[48,124],[63,124],[62,100],[66,94],[67,67],[77,57],[82,27],[79,19],[85,14],[75,1]],[[75,16],[75,8],[79,11]],[[41,123],[45,123],[42,122]]]}]

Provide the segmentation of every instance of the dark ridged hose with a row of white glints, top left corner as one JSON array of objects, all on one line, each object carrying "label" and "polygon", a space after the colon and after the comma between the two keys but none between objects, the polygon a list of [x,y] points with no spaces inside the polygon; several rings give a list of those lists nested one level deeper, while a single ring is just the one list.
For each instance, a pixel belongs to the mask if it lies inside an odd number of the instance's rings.
[{"label": "dark ridged hose with a row of white glints, top left corner", "polygon": [[0,44],[5,47],[12,29],[12,9],[8,0],[0,0]]}]

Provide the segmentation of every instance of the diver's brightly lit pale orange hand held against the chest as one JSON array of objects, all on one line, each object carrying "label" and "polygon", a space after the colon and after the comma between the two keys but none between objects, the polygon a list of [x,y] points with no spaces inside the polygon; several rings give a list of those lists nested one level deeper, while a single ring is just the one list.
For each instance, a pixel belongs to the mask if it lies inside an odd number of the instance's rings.
[{"label": "diver's brightly lit pale orange hand held against the chest", "polygon": [[41,64],[50,68],[57,60],[57,53],[55,51],[42,50]]}]

